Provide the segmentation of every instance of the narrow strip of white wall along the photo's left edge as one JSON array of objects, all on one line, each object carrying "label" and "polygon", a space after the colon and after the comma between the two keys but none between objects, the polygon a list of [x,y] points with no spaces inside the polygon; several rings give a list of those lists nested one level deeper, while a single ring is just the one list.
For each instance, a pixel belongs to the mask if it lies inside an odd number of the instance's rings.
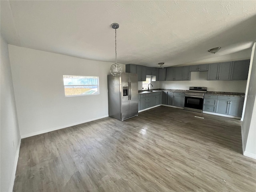
[{"label": "narrow strip of white wall along the photo's left edge", "polygon": [[8,44],[2,35],[0,43],[0,191],[6,192],[12,191],[14,184],[20,149],[20,131],[16,114]]}]

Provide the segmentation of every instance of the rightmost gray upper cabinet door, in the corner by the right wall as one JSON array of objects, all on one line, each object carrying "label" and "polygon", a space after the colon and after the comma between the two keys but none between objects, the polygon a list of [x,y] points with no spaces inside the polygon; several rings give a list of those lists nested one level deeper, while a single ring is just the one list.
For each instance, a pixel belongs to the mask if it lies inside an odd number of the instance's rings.
[{"label": "rightmost gray upper cabinet door, in the corner by the right wall", "polygon": [[233,61],[230,80],[247,80],[250,60]]}]

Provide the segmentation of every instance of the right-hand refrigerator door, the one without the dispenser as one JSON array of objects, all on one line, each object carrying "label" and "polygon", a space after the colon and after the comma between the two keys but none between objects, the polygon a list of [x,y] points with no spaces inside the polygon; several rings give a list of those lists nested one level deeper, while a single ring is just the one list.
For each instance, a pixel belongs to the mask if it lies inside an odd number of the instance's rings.
[{"label": "right-hand refrigerator door, the one without the dispenser", "polygon": [[138,75],[130,73],[130,117],[138,115]]}]

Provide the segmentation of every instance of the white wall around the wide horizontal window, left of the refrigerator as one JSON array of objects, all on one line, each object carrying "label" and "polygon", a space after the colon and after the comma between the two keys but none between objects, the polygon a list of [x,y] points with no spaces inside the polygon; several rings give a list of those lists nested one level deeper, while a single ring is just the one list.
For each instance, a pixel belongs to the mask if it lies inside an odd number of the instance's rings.
[{"label": "white wall around the wide horizontal window, left of the refrigerator", "polygon": [[[13,45],[9,54],[22,138],[108,116],[107,75],[113,63]],[[63,75],[99,76],[100,94],[65,97]]]}]

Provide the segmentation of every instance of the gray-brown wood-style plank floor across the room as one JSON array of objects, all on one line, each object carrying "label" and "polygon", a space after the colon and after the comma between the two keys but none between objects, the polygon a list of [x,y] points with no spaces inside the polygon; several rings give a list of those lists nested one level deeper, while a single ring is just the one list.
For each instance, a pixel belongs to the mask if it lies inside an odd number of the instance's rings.
[{"label": "gray-brown wood-style plank floor across the room", "polygon": [[14,184],[14,192],[255,190],[240,120],[165,106],[22,139]]}]

